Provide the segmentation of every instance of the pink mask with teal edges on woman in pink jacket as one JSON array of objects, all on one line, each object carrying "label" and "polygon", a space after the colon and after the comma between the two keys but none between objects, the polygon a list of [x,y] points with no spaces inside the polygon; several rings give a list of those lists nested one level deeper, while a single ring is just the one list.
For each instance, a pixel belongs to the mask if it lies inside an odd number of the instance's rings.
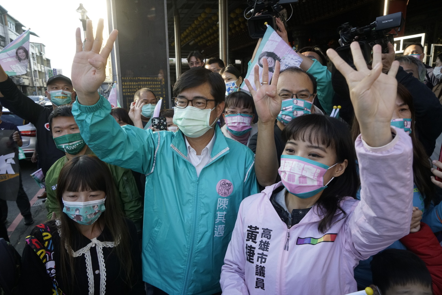
[{"label": "pink mask with teal edges on woman in pink jacket", "polygon": [[282,155],[278,173],[289,193],[306,199],[327,188],[334,177],[324,185],[324,174],[333,166],[329,167],[300,156]]}]

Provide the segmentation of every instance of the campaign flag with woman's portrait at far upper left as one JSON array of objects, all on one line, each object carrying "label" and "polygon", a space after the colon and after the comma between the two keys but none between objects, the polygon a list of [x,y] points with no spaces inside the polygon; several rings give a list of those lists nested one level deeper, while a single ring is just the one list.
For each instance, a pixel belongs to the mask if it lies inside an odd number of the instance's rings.
[{"label": "campaign flag with woman's portrait at far upper left", "polygon": [[8,76],[24,75],[29,63],[29,34],[27,30],[0,51],[0,64]]}]

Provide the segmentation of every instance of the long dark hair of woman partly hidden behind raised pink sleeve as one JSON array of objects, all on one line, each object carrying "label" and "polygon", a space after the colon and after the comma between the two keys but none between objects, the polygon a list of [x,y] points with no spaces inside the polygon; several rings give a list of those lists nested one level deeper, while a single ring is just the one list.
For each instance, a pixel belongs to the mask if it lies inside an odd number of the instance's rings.
[{"label": "long dark hair of woman partly hidden behind raised pink sleeve", "polygon": [[[431,173],[430,160],[428,159],[427,153],[425,152],[425,149],[423,148],[423,145],[419,141],[416,134],[413,96],[410,91],[408,91],[408,89],[400,83],[397,84],[397,95],[404,101],[412,113],[412,132],[410,133],[410,136],[413,143],[413,181],[419,190],[419,193],[421,193],[423,197],[424,207],[428,208],[431,202],[437,204],[438,198],[436,196],[436,187],[431,182],[430,178],[433,175]],[[351,133],[353,139],[356,139],[359,133],[361,133],[359,130],[358,120],[356,120],[355,117],[353,117]]]}]

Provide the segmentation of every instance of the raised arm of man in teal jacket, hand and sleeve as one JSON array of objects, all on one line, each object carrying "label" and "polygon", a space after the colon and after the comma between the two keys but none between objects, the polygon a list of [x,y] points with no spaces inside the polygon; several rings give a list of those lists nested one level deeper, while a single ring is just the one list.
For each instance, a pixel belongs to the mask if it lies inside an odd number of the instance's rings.
[{"label": "raised arm of man in teal jacket, hand and sleeve", "polygon": [[100,52],[102,34],[103,19],[99,20],[95,40],[92,22],[88,20],[87,41],[83,50],[80,29],[76,31],[71,78],[77,101],[72,105],[72,114],[84,141],[101,160],[147,174],[151,171],[152,154],[160,144],[160,135],[130,125],[120,127],[110,115],[110,103],[97,90],[106,77],[105,65],[117,38],[117,30],[110,33]]}]

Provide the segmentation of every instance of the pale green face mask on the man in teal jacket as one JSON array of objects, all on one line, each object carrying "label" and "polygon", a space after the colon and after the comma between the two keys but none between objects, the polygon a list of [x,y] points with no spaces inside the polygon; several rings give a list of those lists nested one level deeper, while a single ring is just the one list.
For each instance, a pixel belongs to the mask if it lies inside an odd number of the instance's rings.
[{"label": "pale green face mask on the man in teal jacket", "polygon": [[207,130],[213,128],[212,126],[216,124],[218,118],[215,118],[212,124],[210,124],[210,113],[213,109],[198,109],[194,106],[187,106],[184,109],[175,108],[175,113],[173,115],[173,124],[177,125],[179,130],[181,130],[187,137],[200,137]]}]

